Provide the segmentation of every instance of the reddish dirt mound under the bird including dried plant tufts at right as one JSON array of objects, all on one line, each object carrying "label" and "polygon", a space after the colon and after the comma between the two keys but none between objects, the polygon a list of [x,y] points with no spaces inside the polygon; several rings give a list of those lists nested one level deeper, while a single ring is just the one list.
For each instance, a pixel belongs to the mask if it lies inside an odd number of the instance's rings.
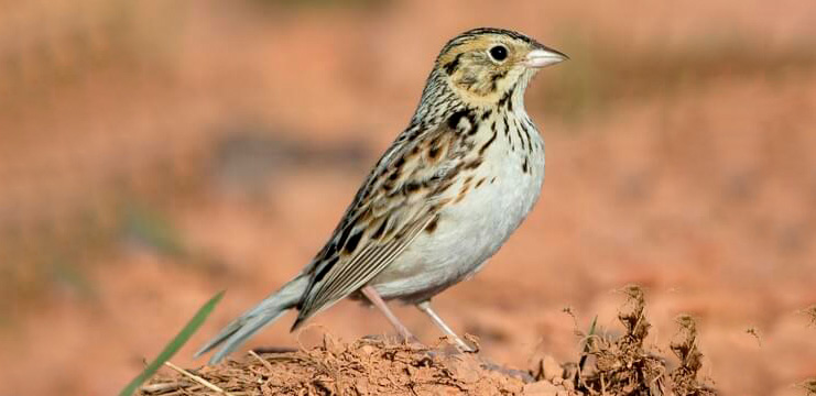
[{"label": "reddish dirt mound under the bird including dried plant tufts at right", "polygon": [[703,354],[693,318],[677,318],[668,345],[677,359],[670,363],[644,346],[651,324],[643,290],[623,292],[628,300],[618,318],[624,332],[612,337],[595,326],[579,332],[577,362],[543,356],[521,371],[461,353],[444,340],[434,346],[383,338],[346,343],[326,334],[311,349],[250,352],[192,371],[171,364],[175,372],[153,378],[141,395],[716,395],[697,380]]}]

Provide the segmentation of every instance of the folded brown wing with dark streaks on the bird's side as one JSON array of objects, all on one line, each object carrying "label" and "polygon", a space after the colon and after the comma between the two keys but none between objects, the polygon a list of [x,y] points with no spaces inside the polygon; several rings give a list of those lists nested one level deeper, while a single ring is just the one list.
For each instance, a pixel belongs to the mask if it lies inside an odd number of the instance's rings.
[{"label": "folded brown wing with dark streaks on the bird's side", "polygon": [[[315,312],[358,290],[391,264],[453,199],[456,174],[472,144],[456,123],[422,133],[409,129],[387,152],[346,211],[329,243],[307,270],[312,283],[298,305],[297,328]],[[472,128],[468,122],[464,127]],[[457,127],[459,125],[459,127]],[[413,139],[411,139],[413,136]]]}]

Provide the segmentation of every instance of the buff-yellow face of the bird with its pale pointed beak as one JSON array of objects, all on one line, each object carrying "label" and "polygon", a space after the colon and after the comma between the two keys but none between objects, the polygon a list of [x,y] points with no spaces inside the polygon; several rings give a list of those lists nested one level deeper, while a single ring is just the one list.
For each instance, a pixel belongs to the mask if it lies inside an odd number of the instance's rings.
[{"label": "buff-yellow face of the bird with its pale pointed beak", "polygon": [[564,59],[566,55],[524,36],[477,32],[448,43],[437,59],[437,67],[464,99],[489,103],[498,101],[537,69]]}]

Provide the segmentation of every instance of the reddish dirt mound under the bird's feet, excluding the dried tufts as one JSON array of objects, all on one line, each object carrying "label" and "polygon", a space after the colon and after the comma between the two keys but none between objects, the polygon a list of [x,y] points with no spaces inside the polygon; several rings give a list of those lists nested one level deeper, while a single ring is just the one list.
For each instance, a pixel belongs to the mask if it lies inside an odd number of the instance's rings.
[{"label": "reddish dirt mound under the bird's feet, excluding the dried tufts", "polygon": [[[534,383],[527,372],[500,367],[451,345],[428,348],[365,338],[353,343],[330,336],[301,351],[251,353],[214,367],[155,378],[143,395],[569,395]],[[219,388],[221,391],[217,391]],[[544,392],[547,391],[547,392]]]}]

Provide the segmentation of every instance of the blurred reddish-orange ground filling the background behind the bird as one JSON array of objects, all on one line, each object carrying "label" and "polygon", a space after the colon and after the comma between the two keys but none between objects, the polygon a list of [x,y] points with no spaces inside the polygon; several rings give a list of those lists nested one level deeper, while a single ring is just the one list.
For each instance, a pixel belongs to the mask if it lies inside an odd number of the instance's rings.
[{"label": "blurred reddish-orange ground filling the background behind the bird", "polygon": [[[538,206],[436,299],[442,315],[497,362],[575,360],[562,309],[613,331],[612,290],[637,282],[666,355],[673,318],[698,318],[723,394],[804,394],[812,0],[2,2],[0,394],[113,394],[227,289],[174,359],[202,364],[205,338],[322,246],[437,51],[479,25],[573,61],[527,95],[547,142]],[[296,345],[291,320],[250,345]],[[390,331],[352,302],[313,322],[346,340]]]}]

